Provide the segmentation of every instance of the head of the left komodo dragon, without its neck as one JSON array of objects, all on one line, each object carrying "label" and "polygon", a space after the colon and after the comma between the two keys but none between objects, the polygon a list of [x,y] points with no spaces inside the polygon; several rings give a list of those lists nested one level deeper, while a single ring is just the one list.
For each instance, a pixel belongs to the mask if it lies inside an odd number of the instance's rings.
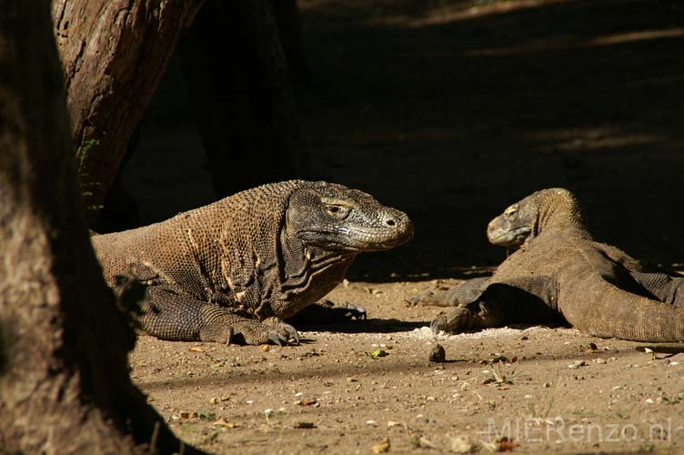
[{"label": "head of the left komodo dragon, without its neck", "polygon": [[307,247],[354,254],[403,245],[414,229],[404,212],[362,191],[312,182],[290,195],[287,231]]}]

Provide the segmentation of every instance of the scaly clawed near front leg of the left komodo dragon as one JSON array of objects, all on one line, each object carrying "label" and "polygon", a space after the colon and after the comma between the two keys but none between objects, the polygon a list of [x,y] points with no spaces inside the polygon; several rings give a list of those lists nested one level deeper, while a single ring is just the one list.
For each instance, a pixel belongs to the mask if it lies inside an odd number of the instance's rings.
[{"label": "scaly clawed near front leg of the left komodo dragon", "polygon": [[230,344],[241,339],[247,344],[299,342],[297,330],[277,318],[259,322],[215,303],[198,300],[163,286],[147,288],[140,322],[148,334],[174,341],[211,341]]}]

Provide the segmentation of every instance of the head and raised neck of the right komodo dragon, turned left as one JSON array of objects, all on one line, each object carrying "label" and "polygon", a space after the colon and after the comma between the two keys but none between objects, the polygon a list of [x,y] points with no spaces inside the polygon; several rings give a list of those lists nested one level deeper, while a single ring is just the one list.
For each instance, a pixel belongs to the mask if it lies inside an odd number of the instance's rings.
[{"label": "head and raised neck of the right komodo dragon, turned left", "polygon": [[584,219],[577,198],[568,189],[542,189],[492,219],[487,238],[492,245],[518,248],[550,227],[584,228]]}]

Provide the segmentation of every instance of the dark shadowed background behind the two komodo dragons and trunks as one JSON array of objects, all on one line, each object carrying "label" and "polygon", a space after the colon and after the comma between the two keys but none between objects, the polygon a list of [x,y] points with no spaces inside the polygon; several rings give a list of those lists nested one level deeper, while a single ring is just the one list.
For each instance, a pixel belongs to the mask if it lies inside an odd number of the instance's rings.
[{"label": "dark shadowed background behind the two komodo dragons and trunks", "polygon": [[[594,236],[684,262],[684,5],[658,0],[299,2],[297,86],[312,179],[405,210],[416,238],[352,278],[460,277],[496,265],[488,220],[543,187]],[[172,62],[123,170],[144,224],[216,199]],[[264,166],[268,151],[264,150]],[[259,169],[226,168],[226,179]]]}]

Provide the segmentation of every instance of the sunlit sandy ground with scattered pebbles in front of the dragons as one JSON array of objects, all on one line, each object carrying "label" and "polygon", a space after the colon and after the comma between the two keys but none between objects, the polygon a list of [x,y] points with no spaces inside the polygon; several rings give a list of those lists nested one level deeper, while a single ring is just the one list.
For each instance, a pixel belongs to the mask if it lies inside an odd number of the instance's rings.
[{"label": "sunlit sandy ground with scattered pebbles in front of the dragons", "polygon": [[[566,328],[434,336],[438,311],[406,298],[436,286],[341,286],[331,297],[369,319],[302,331],[300,346],[143,336],[132,376],[183,440],[215,453],[373,453],[386,438],[390,453],[488,453],[501,438],[521,453],[683,450],[684,354]],[[428,361],[436,343],[447,362]]]}]

